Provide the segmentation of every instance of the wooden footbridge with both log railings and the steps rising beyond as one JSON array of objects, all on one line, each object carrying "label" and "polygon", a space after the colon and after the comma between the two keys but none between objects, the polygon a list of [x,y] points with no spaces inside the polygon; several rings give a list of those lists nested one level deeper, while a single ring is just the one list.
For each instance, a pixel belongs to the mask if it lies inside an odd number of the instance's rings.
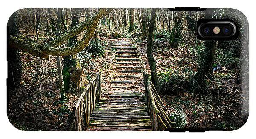
[{"label": "wooden footbridge with both log railings and the steps rising beyond", "polygon": [[74,107],[70,130],[172,128],[150,76],[143,77],[137,48],[128,41],[112,41],[111,46],[116,50],[116,69],[109,93],[101,94],[102,75],[96,74]]}]

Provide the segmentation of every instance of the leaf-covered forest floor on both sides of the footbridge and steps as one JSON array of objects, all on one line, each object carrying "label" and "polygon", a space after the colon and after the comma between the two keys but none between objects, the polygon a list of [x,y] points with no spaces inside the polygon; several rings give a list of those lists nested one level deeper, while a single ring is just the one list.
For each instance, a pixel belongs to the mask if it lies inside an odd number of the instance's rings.
[{"label": "leaf-covered forest floor on both sides of the footbridge and steps", "polygon": [[[102,37],[101,40],[109,42],[111,39]],[[115,39],[116,41],[118,39]],[[120,39],[119,39],[120,40]],[[124,40],[124,39],[122,39]],[[142,66],[145,71],[150,72],[146,56],[146,42],[131,39],[137,46],[142,58]],[[165,42],[160,42],[166,45]],[[159,43],[157,43],[159,44]],[[156,44],[155,44],[156,45]],[[189,71],[196,71],[197,65],[193,58],[186,55],[183,48],[173,48],[168,51],[154,51],[159,73],[169,72],[170,69],[181,77],[188,77]],[[27,53],[22,53],[22,62],[26,68],[23,84],[35,84],[31,81],[36,74],[38,59]],[[111,80],[104,80],[108,76],[111,79],[114,74],[114,51],[109,45],[105,46],[105,54],[102,57],[93,57],[93,66],[86,69],[87,75],[102,72],[102,93],[109,93]],[[67,100],[61,104],[59,100],[58,75],[55,57],[49,61],[41,60],[40,74],[44,78],[39,86],[24,85],[10,92],[9,119],[10,122],[20,130],[67,130],[68,116],[73,111],[73,106],[78,98],[77,95],[67,94]],[[218,93],[208,92],[206,94],[193,93],[186,81],[173,84],[172,90],[162,94],[162,99],[167,111],[175,109],[185,113],[186,128],[225,128],[234,130],[247,120],[249,113],[249,94],[242,91],[241,85],[236,81],[237,70],[222,69],[214,72],[215,78],[221,83]],[[44,81],[44,82],[43,82]],[[216,88],[216,87],[215,87]]]}]

